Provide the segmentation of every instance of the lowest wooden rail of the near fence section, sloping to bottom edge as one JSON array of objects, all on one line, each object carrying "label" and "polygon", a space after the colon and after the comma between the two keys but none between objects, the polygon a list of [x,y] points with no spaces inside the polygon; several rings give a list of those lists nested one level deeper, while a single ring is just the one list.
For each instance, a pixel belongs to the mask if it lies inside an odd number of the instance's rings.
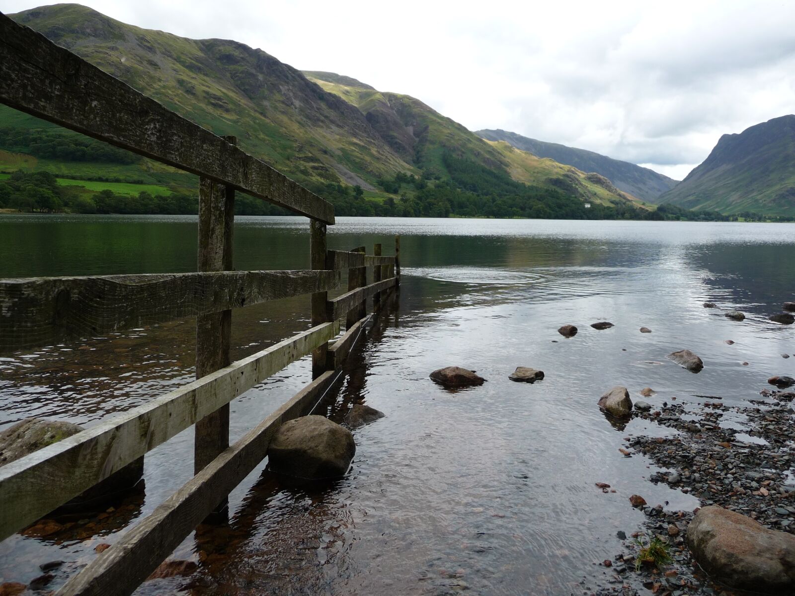
[{"label": "lowest wooden rail of the near fence section, sloping to bottom edge", "polygon": [[323,373],[228,447],[122,540],[69,579],[56,596],[132,594],[161,563],[163,553],[179,546],[215,505],[265,458],[270,440],[281,424],[301,416],[312,402],[323,397],[334,377],[333,370]]}]

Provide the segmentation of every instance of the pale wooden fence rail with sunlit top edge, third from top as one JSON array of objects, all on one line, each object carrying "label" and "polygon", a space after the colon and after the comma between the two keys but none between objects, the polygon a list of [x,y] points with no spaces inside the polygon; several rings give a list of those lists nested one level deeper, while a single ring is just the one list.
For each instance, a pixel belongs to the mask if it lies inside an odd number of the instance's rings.
[{"label": "pale wooden fence rail with sunlit top edge, third from top", "polygon": [[323,323],[0,467],[0,540],[63,505],[339,333]]}]

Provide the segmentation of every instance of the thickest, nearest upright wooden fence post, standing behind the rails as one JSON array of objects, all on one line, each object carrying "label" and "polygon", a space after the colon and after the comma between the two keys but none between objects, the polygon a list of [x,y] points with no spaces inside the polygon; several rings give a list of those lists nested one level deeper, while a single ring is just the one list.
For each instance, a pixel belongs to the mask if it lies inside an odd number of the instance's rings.
[{"label": "thickest, nearest upright wooden fence post, standing behind the rails", "polygon": [[[237,145],[235,137],[225,137]],[[231,271],[235,189],[202,177],[199,184],[199,271]],[[196,378],[229,366],[231,310],[196,317]],[[193,473],[229,447],[229,404],[196,422]],[[222,505],[223,506],[223,505]]]}]

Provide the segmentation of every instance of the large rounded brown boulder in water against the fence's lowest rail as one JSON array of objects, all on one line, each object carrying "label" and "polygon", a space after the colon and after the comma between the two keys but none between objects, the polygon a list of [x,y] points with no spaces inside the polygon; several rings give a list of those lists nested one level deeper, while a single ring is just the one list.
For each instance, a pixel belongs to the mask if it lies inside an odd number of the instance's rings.
[{"label": "large rounded brown boulder in water against the fence's lowest rail", "polygon": [[282,424],[268,447],[271,470],[307,480],[339,478],[351,466],[351,431],[325,416],[302,416]]}]

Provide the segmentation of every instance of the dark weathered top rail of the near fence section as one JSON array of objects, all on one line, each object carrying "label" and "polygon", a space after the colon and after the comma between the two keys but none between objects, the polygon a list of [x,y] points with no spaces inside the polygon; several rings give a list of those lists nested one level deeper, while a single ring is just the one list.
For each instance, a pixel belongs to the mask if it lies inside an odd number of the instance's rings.
[{"label": "dark weathered top rail of the near fence section", "polygon": [[4,14],[0,103],[334,223],[331,203]]}]

